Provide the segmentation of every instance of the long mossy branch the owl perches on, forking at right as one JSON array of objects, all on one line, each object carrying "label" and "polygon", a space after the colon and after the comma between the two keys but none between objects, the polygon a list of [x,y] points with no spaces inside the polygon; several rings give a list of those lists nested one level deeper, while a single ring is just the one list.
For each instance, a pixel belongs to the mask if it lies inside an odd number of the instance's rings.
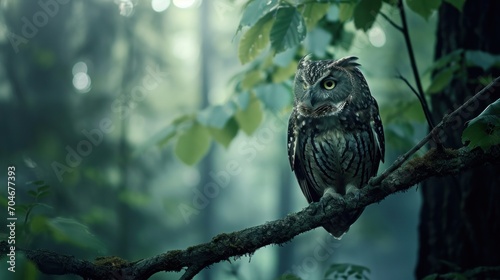
[{"label": "long mossy branch the owl perches on, forking at right", "polygon": [[[16,250],[23,252],[41,272],[52,275],[76,274],[84,279],[142,280],[148,279],[157,272],[186,269],[181,279],[192,279],[211,264],[226,261],[229,258],[251,255],[267,245],[283,244],[323,224],[337,223],[344,227],[342,223],[345,221],[339,218],[344,216],[343,214],[379,202],[390,194],[405,191],[430,177],[456,174],[484,164],[500,164],[500,145],[491,147],[488,152],[478,148],[470,150],[468,147],[458,150],[431,149],[421,158],[408,160],[432,138],[434,133],[438,133],[438,130],[451,120],[460,117],[460,113],[465,108],[471,107],[483,95],[494,92],[499,85],[500,77],[453,113],[445,116],[429,135],[396,160],[384,173],[370,180],[369,184],[358,193],[347,194],[344,199],[324,196],[320,202],[311,203],[302,211],[289,214],[282,219],[232,233],[222,233],[208,243],[195,245],[185,250],[169,251],[133,263],[116,257],[100,258],[92,263],[44,250],[20,248]],[[8,243],[0,242],[0,253],[5,256],[9,252]]]}]

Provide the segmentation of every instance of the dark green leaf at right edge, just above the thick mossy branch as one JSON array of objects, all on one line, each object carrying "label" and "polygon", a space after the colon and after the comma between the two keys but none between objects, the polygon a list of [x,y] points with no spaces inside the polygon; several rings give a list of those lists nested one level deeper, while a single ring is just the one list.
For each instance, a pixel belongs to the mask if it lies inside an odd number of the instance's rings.
[{"label": "dark green leaf at right edge, just above the thick mossy branch", "polygon": [[500,144],[500,99],[467,123],[462,132],[462,143],[467,142],[472,149],[480,147],[484,151]]}]

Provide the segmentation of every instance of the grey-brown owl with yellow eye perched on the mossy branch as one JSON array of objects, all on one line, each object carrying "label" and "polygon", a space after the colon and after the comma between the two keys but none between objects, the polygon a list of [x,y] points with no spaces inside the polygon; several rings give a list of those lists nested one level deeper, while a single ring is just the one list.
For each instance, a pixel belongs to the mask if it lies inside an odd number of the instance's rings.
[{"label": "grey-brown owl with yellow eye perched on the mossy branch", "polygon": [[[288,123],[288,158],[309,203],[325,194],[343,197],[368,183],[384,160],[378,105],[358,69],[357,57],[299,61]],[[364,209],[324,228],[340,238]]]}]

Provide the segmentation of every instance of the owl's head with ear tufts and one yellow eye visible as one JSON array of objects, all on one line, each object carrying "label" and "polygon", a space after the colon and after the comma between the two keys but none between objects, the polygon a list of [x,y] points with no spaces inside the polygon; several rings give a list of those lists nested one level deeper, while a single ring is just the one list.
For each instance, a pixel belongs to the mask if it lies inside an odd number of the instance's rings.
[{"label": "owl's head with ear tufts and one yellow eye visible", "polygon": [[358,69],[358,58],[299,61],[295,75],[294,105],[305,116],[322,117],[339,114],[350,103],[368,92],[366,81]]}]

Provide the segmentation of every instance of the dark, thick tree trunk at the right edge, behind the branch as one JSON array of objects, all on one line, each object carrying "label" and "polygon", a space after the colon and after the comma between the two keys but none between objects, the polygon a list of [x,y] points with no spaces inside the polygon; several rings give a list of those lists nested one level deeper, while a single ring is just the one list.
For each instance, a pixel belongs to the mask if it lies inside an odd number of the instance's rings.
[{"label": "dark, thick tree trunk at the right edge, behind the branch", "polygon": [[[466,1],[463,12],[443,2],[439,10],[435,58],[457,49],[500,53],[498,27],[500,1]],[[436,121],[464,103],[482,86],[479,77],[499,76],[499,69],[485,72],[479,67],[465,68],[455,75],[441,94],[431,97]],[[454,121],[442,134],[445,147],[462,145],[464,124],[498,99],[495,89],[488,100],[481,100]],[[419,225],[418,279],[433,273],[465,271],[478,266],[500,266],[500,166],[483,166],[463,174],[433,178],[422,184],[423,205]],[[500,279],[500,273],[476,274],[469,279]]]}]

